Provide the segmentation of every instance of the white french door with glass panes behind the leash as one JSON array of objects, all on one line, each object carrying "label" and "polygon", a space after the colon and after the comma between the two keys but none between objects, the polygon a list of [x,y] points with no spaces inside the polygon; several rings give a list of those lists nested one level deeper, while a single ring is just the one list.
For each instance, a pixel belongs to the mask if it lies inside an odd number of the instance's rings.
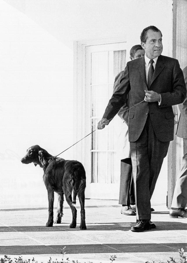
[{"label": "white french door with glass panes behind the leash", "polygon": [[[113,93],[115,76],[126,64],[126,43],[85,47],[85,147],[86,197],[118,199],[120,183],[119,134],[122,120],[116,116],[103,130],[97,130]],[[121,142],[123,143],[123,142]]]}]

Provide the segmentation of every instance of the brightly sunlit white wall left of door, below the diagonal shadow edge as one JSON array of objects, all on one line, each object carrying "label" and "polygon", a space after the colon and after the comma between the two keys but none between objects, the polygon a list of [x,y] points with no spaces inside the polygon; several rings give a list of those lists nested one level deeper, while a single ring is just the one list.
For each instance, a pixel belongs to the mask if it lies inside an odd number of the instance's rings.
[{"label": "brightly sunlit white wall left of door, below the diagonal shadow edge", "polygon": [[53,155],[72,144],[73,53],[3,1],[0,10],[0,208],[47,206],[43,170],[20,160],[35,144]]}]

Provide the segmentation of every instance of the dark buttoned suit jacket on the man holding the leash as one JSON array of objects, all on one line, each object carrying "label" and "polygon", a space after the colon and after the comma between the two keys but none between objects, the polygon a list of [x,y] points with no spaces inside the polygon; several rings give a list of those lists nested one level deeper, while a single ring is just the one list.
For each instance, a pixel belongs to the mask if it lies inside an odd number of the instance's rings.
[{"label": "dark buttoned suit jacket on the man holding the leash", "polygon": [[[147,89],[144,57],[127,62],[123,76],[113,93],[103,118],[111,119],[125,104],[130,94],[130,107],[144,100]],[[178,60],[160,55],[158,57],[150,90],[161,94],[158,102],[142,103],[129,110],[129,141],[137,141],[148,113],[150,113],[154,132],[160,141],[172,141],[174,134],[174,113],[172,105],[182,103],[186,97],[183,72]]]}]

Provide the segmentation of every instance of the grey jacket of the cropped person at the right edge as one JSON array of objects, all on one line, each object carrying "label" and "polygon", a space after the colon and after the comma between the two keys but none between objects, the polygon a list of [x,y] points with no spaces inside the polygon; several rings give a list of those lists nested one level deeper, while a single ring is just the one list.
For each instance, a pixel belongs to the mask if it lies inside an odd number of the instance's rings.
[{"label": "grey jacket of the cropped person at the right edge", "polygon": [[[187,89],[187,66],[183,69],[183,74]],[[181,114],[179,117],[176,135],[178,137],[187,139],[187,96],[183,103],[179,105],[179,110]]]}]

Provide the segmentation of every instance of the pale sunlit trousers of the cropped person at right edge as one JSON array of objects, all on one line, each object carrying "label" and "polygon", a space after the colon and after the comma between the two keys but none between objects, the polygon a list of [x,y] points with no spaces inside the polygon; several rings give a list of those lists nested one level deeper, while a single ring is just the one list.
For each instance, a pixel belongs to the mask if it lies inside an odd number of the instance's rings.
[{"label": "pale sunlit trousers of the cropped person at right edge", "polygon": [[182,167],[176,179],[172,207],[183,208],[187,206],[187,139],[183,138]]}]

